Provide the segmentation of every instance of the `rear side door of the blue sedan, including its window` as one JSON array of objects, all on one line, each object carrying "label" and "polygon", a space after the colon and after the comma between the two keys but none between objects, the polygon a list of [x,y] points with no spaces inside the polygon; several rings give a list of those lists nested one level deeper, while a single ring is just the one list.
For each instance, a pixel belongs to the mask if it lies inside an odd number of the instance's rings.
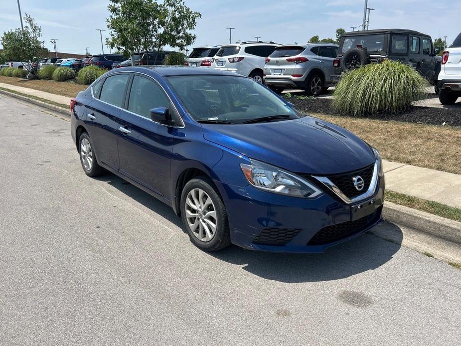
[{"label": "rear side door of the blue sedan, including its window", "polygon": [[87,106],[86,124],[98,161],[119,169],[118,117],[125,102],[128,73],[118,73],[93,86],[94,99]]}]

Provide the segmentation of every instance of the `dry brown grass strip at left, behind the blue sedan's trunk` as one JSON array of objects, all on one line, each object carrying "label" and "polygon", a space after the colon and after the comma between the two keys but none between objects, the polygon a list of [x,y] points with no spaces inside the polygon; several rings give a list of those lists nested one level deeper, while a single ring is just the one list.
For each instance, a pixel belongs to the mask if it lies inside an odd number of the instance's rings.
[{"label": "dry brown grass strip at left, behind the blue sedan's trunk", "polygon": [[54,80],[31,79],[3,77],[0,76],[0,83],[11,84],[23,88],[30,88],[47,93],[75,97],[79,91],[85,90],[87,85],[80,85],[73,82],[55,82]]}]

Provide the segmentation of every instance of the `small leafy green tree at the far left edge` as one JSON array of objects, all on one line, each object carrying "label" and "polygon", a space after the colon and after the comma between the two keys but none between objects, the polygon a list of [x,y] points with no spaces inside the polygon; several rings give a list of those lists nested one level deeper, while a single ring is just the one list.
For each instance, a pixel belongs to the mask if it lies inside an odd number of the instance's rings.
[{"label": "small leafy green tree at the far left edge", "polygon": [[[46,51],[44,41],[40,40],[41,27],[27,13],[24,21],[26,25],[23,30],[18,28],[3,32],[0,38],[3,54],[7,60],[38,62]],[[36,73],[34,70],[30,72]]]}]

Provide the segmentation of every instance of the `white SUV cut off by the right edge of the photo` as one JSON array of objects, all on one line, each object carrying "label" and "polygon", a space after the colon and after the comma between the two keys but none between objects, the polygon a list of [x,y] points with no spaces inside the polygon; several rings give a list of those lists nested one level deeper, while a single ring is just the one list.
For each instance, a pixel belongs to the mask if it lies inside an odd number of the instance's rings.
[{"label": "white SUV cut off by the right edge of the photo", "polygon": [[443,105],[453,105],[461,97],[461,33],[442,55],[437,86]]}]

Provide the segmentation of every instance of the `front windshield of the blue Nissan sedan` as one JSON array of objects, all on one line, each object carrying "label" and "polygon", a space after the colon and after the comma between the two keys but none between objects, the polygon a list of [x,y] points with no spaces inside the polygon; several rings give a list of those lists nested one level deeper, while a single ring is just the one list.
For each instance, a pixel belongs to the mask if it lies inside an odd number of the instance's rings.
[{"label": "front windshield of the blue Nissan sedan", "polygon": [[166,79],[190,116],[197,121],[240,124],[266,117],[303,117],[250,78],[203,75]]}]

